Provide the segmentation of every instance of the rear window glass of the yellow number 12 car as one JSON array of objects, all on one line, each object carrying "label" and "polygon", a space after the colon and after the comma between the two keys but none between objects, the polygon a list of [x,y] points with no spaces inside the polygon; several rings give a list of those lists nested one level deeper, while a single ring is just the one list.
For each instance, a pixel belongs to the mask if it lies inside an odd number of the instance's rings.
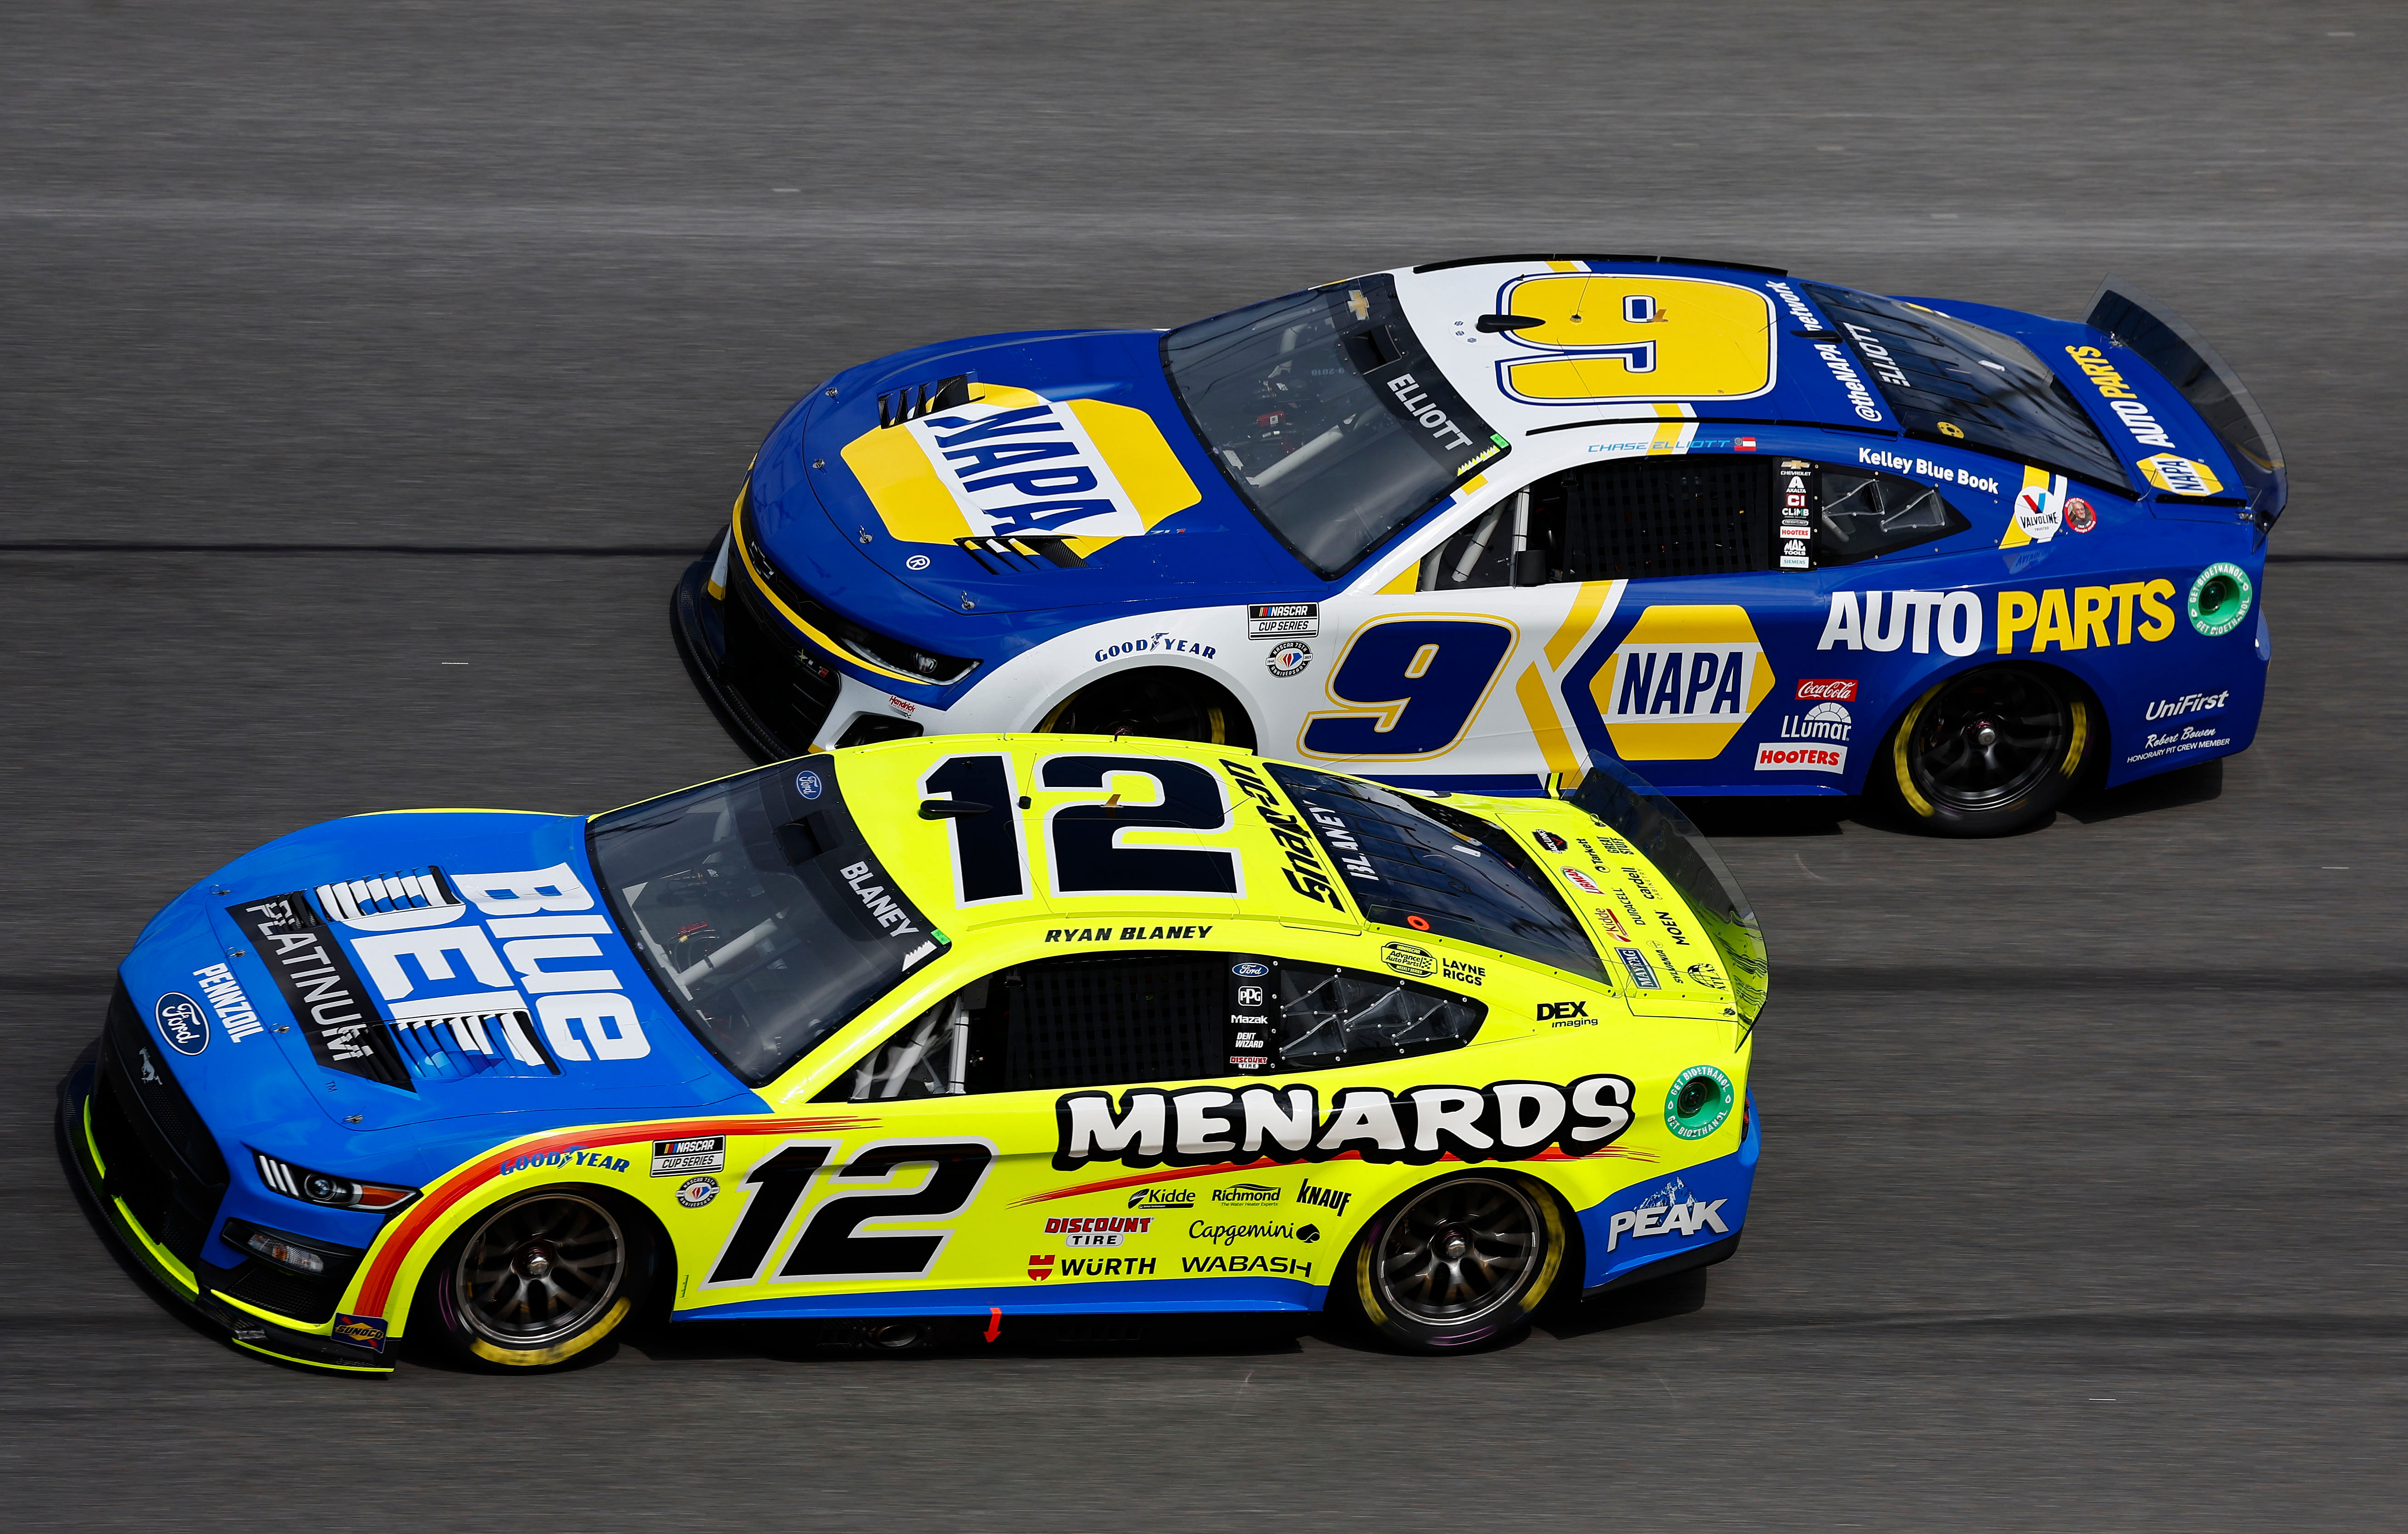
[{"label": "rear window glass of the yellow number 12 car", "polygon": [[1269,768],[1365,918],[1606,980],[1580,918],[1500,826],[1361,778]]}]

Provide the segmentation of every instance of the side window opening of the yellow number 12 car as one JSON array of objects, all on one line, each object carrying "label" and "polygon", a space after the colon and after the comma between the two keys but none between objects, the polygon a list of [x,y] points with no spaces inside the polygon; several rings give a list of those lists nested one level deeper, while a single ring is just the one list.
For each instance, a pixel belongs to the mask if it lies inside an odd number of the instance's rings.
[{"label": "side window opening of the yellow number 12 car", "polygon": [[1459,1050],[1486,1016],[1397,975],[1252,954],[1045,958],[929,1007],[819,1101],[1317,1072]]}]

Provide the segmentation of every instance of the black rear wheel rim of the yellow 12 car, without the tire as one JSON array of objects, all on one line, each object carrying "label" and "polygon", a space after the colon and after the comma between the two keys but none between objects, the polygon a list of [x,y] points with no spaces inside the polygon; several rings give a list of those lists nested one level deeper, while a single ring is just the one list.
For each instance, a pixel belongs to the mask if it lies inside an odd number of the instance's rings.
[{"label": "black rear wheel rim of the yellow 12 car, without the tire", "polygon": [[1440,1182],[1397,1211],[1373,1252],[1380,1303],[1430,1327],[1495,1315],[1539,1262],[1539,1209],[1488,1178]]}]

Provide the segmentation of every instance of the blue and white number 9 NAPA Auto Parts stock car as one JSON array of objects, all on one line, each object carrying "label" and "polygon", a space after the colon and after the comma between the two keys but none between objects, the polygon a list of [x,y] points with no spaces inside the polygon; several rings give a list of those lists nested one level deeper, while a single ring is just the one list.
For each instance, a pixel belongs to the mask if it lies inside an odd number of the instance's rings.
[{"label": "blue and white number 9 NAPA Auto Parts stock car", "polygon": [[1531,795],[1616,756],[1975,836],[2249,747],[2283,501],[2129,284],[2071,323],[1452,260],[838,373],[674,626],[761,759],[1129,730]]}]

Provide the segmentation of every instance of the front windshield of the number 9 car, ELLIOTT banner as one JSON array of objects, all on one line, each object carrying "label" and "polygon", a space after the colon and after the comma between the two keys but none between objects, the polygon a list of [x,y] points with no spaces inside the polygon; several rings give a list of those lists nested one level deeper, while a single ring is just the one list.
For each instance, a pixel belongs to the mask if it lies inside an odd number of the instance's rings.
[{"label": "front windshield of the number 9 car, ELLIOTT banner", "polygon": [[1389,277],[1182,325],[1163,368],[1238,494],[1322,576],[1507,450],[1430,366]]}]

